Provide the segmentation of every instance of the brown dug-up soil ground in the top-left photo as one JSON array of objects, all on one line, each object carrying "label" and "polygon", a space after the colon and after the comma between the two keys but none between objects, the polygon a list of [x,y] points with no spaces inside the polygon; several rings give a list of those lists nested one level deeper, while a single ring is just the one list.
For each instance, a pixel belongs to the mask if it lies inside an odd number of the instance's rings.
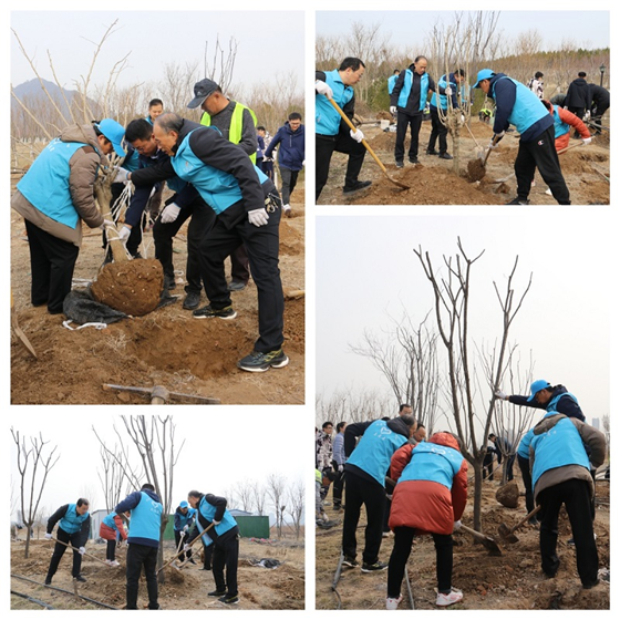
[{"label": "brown dug-up soil ground in the top-left photo", "polygon": [[[19,180],[13,175],[13,184]],[[144,317],[125,319],[104,330],[63,328],[64,316],[51,316],[30,303],[30,256],[23,219],[11,210],[11,291],[19,327],[38,359],[11,339],[13,404],[147,404],[149,393],[104,391],[114,384],[218,399],[223,404],[301,404],[304,402],[304,207],[303,184],[293,194],[293,217],[280,224],[280,271],[286,293],[285,352],[288,366],[265,373],[237,369],[258,337],[257,290],[254,281],[232,293],[237,319],[196,320],[182,309],[183,271],[187,258],[185,227],[175,241],[176,303]],[[296,202],[297,200],[299,202]],[[92,280],[103,261],[101,231],[84,227],[84,241],[74,273]],[[154,256],[151,232],[147,257]],[[229,273],[229,268],[227,267]],[[288,294],[287,294],[288,293]],[[204,297],[202,304],[206,304]],[[75,326],[73,326],[75,327]],[[188,402],[173,397],[170,404]]]}]

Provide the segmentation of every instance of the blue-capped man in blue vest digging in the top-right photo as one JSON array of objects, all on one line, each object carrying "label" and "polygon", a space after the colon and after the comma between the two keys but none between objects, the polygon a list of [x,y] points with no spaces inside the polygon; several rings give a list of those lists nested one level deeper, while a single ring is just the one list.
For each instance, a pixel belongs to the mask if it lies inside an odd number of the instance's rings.
[{"label": "blue-capped man in blue vest digging in the top-right photo", "polygon": [[[490,69],[478,71],[474,89],[482,89],[495,101],[494,135],[488,148],[496,148],[510,125],[519,132],[519,149],[515,159],[517,197],[508,205],[528,205],[536,168],[560,205],[570,205],[555,146],[554,118],[542,102],[525,85]],[[494,144],[494,141],[496,143]]]}]

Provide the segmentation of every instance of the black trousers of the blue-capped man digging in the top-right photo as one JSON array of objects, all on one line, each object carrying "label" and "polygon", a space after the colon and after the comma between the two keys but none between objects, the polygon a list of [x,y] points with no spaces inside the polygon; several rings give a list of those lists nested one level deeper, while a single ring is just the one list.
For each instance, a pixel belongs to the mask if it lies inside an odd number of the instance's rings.
[{"label": "black trousers of the blue-capped man digging in the top-right photo", "polygon": [[519,141],[515,175],[517,177],[517,197],[520,200],[527,200],[529,196],[536,168],[549,186],[554,198],[560,205],[570,205],[570,194],[561,174],[552,126],[531,142]]}]

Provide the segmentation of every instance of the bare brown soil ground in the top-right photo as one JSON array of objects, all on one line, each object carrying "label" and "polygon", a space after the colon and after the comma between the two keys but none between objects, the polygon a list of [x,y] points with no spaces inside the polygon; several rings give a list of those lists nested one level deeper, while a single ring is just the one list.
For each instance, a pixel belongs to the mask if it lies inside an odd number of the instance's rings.
[{"label": "bare brown soil ground in the top-right photo", "polygon": [[[493,130],[485,123],[472,120],[472,133],[480,147],[486,147]],[[486,174],[482,180],[467,179],[467,164],[476,158],[476,142],[462,131],[459,174],[453,170],[453,162],[425,155],[431,123],[422,124],[420,131],[420,164],[410,164],[406,156],[410,140],[405,140],[405,167],[396,168],[394,144],[396,134],[384,132],[378,125],[362,125],[366,141],[386,168],[384,174],[370,153],[366,153],[360,180],[372,180],[372,186],[353,196],[343,197],[347,156],[334,153],[330,177],[319,198],[320,205],[503,205],[516,197],[514,162],[518,148],[516,133],[508,133],[488,157]],[[581,144],[580,140],[570,141]],[[437,148],[437,147],[435,147]],[[448,136],[448,152],[454,146]],[[609,134],[601,134],[587,146],[576,146],[560,156],[565,180],[574,205],[609,205]],[[410,189],[402,189],[394,179]],[[499,180],[502,183],[498,183]],[[556,205],[552,196],[545,194],[547,186],[537,173],[529,200],[533,205]]]}]

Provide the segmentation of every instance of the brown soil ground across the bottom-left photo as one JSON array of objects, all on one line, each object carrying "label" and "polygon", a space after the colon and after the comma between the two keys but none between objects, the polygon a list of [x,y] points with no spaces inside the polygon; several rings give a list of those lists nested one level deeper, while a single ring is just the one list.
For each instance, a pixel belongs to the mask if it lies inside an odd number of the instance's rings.
[{"label": "brown soil ground across the bottom-left photo", "polygon": [[[44,601],[54,609],[102,609],[101,606],[75,598],[70,593],[59,592],[43,585],[53,542],[34,540],[31,542],[30,557],[24,559],[24,541],[11,544],[11,590]],[[174,542],[165,544],[165,561],[174,555]],[[89,542],[86,552],[105,558],[103,542]],[[120,548],[116,559],[118,568],[110,568],[105,564],[84,556],[82,572],[85,583],[80,583],[79,593],[94,601],[104,602],[113,608],[122,609],[125,604],[125,548]],[[71,578],[71,555],[68,550],[63,556],[59,571],[52,586],[73,592]],[[273,558],[282,562],[276,569],[254,567],[262,558]],[[224,609],[227,606],[216,598],[207,597],[215,589],[213,574],[199,570],[202,564],[186,565],[182,571],[165,568],[165,583],[159,586],[159,604],[162,609]],[[303,541],[285,538],[282,541],[254,541],[241,538],[239,549],[239,596],[240,602],[235,609],[303,609]],[[32,583],[20,577],[37,581]],[[138,592],[138,609],[146,608],[146,583],[144,577]],[[43,609],[22,597],[11,595],[11,609]]]}]

